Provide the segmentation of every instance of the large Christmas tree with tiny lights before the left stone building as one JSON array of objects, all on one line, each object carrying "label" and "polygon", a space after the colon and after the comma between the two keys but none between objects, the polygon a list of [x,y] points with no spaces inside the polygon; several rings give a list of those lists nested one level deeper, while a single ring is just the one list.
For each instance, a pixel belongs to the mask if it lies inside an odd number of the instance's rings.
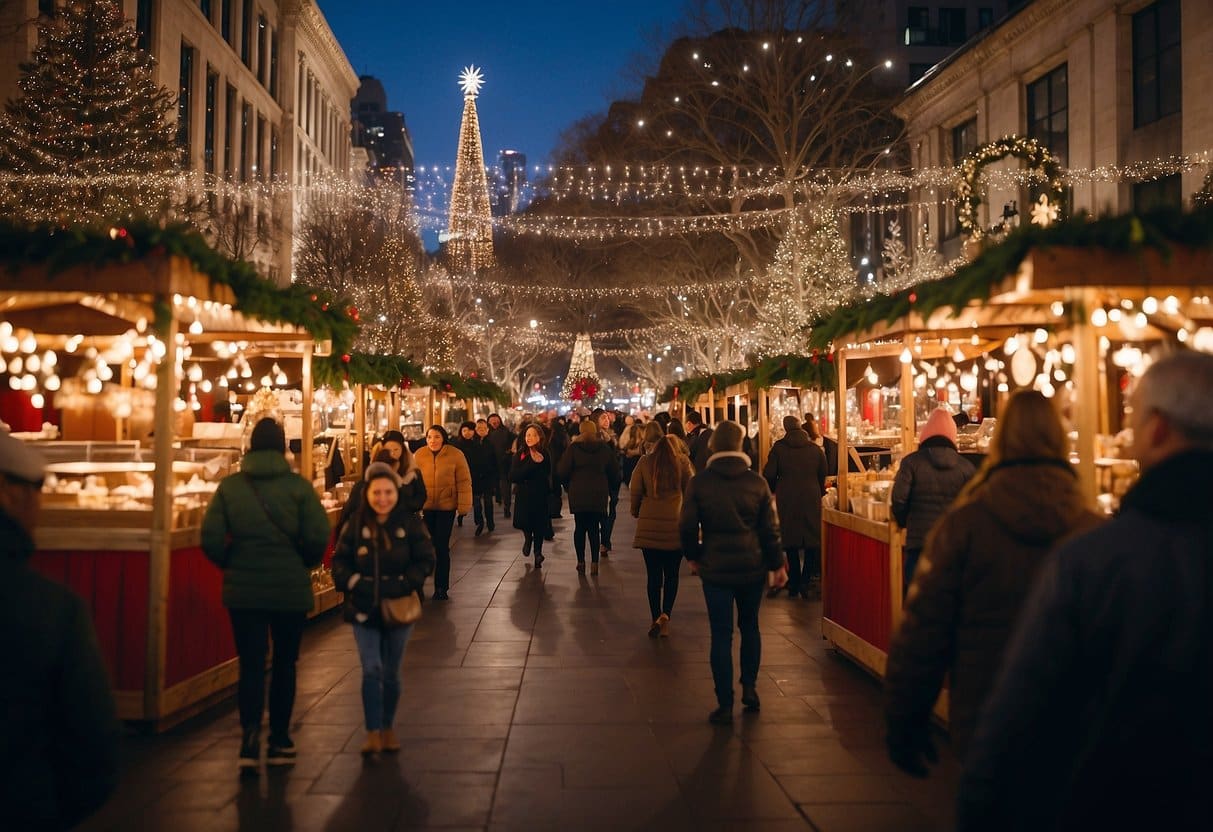
[{"label": "large Christmas tree with tiny lights before the left stone building", "polygon": [[[133,178],[171,172],[180,159],[167,119],[176,96],[152,69],[113,0],[76,0],[44,19],[21,96],[0,120],[0,166],[27,177],[8,189],[11,207],[59,221],[160,207],[167,188]],[[124,175],[132,178],[114,178]]]}]

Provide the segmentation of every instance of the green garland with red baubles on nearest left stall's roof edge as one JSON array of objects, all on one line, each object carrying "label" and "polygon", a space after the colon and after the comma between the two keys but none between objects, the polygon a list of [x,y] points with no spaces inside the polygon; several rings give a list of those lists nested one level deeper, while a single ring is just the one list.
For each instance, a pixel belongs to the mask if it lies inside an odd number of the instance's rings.
[{"label": "green garland with red baubles on nearest left stall's roof edge", "polygon": [[[216,252],[184,223],[160,226],[149,220],[132,220],[113,229],[0,223],[0,264],[11,270],[41,263],[56,274],[76,266],[123,264],[173,255],[188,260],[212,283],[228,286],[235,295],[233,308],[249,318],[301,326],[317,340],[331,341],[338,354],[348,351],[358,335],[358,310],[343,298],[297,284],[278,286],[257,274],[250,263]],[[164,323],[159,320],[161,317],[158,310],[158,323]]]}]

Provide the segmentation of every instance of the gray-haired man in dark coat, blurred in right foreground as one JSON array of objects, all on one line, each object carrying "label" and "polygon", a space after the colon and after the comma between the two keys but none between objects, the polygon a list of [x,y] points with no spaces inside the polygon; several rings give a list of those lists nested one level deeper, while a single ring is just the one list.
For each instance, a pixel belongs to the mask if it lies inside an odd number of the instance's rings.
[{"label": "gray-haired man in dark coat, blurred in right foreground", "polygon": [[1042,568],[966,759],[962,831],[1213,816],[1213,355],[1151,366],[1131,426],[1141,479]]}]

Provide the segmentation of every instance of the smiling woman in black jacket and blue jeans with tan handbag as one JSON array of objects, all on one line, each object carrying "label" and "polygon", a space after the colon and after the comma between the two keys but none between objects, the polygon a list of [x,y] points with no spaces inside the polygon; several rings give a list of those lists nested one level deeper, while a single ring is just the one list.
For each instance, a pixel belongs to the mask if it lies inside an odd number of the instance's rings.
[{"label": "smiling woman in black jacket and blue jeans with tan handbag", "polygon": [[381,602],[425,589],[434,546],[417,513],[400,500],[400,477],[374,462],[365,489],[332,555],[332,582],[346,594],[344,619],[354,627],[363,665],[364,754],[399,751],[392,723],[400,701],[400,662],[412,625],[392,625]]}]

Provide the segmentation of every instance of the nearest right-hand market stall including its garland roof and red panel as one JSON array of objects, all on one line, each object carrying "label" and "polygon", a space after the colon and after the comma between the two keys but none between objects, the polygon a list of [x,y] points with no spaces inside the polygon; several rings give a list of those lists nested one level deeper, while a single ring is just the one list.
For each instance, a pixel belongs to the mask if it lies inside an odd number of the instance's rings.
[{"label": "nearest right-hand market stall including its garland roof and red panel", "polygon": [[1025,229],[951,278],[843,308],[819,325],[815,340],[838,347],[838,399],[853,403],[838,410],[837,490],[824,512],[822,634],[837,649],[883,674],[901,619],[902,532],[889,517],[894,473],[862,457],[850,465],[853,448],[873,435],[870,423],[854,424],[862,412],[854,403],[864,395],[850,388],[855,376],[879,375],[870,369],[878,361],[899,366],[895,378],[873,378],[870,387],[896,405],[876,432],[894,466],[916,448],[919,426],[940,403],[985,417],[961,434],[962,451],[980,451],[1009,392],[1032,387],[1055,398],[1083,490],[1093,508],[1111,511],[1135,475],[1123,406],[1150,351],[1185,342],[1213,348],[1213,223],[1207,216],[1184,222],[1164,226],[1180,235],[1166,251],[1161,232],[1145,238],[1154,246],[1138,235],[1128,251],[1104,247],[1137,218]]}]

